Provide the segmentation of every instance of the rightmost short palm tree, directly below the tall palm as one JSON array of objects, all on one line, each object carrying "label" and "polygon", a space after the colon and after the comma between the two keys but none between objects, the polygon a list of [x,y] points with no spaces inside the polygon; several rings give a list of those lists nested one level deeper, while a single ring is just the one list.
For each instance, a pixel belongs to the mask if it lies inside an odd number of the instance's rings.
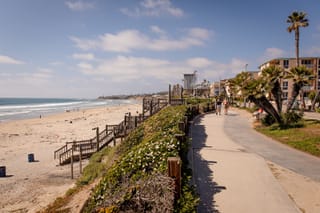
[{"label": "rightmost short palm tree, directly below the tall palm", "polygon": [[287,72],[286,78],[293,80],[292,94],[287,106],[287,112],[289,112],[299,94],[302,101],[304,101],[302,88],[308,85],[313,78],[312,70],[307,69],[305,66],[294,67]]}]

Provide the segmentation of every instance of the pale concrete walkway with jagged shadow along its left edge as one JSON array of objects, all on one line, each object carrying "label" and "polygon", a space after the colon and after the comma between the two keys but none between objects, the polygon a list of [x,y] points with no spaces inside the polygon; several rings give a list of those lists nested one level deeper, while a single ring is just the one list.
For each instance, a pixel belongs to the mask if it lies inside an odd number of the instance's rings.
[{"label": "pale concrete walkway with jagged shadow along its left edge", "polygon": [[201,199],[198,212],[299,212],[265,160],[225,134],[225,118],[206,114],[192,126],[190,158]]}]

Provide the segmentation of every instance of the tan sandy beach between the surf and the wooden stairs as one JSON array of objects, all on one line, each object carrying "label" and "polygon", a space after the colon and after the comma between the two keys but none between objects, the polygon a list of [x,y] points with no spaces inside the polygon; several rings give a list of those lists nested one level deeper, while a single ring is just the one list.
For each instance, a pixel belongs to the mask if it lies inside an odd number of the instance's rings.
[{"label": "tan sandy beach between the surf and the wooden stairs", "polygon": [[[0,123],[0,212],[36,212],[73,186],[70,166],[58,166],[54,151],[67,141],[95,136],[94,127],[118,124],[124,114],[141,113],[141,104],[64,112]],[[28,154],[35,162],[28,162]],[[75,167],[75,178],[79,168]]]}]

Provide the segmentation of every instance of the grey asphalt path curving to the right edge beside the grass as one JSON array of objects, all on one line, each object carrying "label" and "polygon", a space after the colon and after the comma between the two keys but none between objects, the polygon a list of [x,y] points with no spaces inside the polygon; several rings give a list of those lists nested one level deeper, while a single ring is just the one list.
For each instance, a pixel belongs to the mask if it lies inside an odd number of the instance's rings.
[{"label": "grey asphalt path curving to the right edge beside the grass", "polygon": [[[252,129],[251,115],[245,111],[234,110],[225,116],[224,132],[235,143],[242,145],[249,152],[257,153],[266,160],[320,182],[320,158],[288,147],[256,132]],[[308,113],[307,116],[311,118],[315,115]]]}]

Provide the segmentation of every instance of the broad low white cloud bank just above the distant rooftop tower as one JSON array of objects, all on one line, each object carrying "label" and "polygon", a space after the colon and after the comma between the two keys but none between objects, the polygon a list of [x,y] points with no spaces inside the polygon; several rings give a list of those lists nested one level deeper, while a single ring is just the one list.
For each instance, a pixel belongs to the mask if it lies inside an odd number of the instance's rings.
[{"label": "broad low white cloud bank just above the distant rooftop tower", "polygon": [[195,69],[202,79],[216,81],[234,77],[243,70],[246,61],[232,59],[229,63],[219,63],[208,58],[189,58],[183,61],[169,61],[146,57],[117,56],[92,64],[78,65],[80,71],[92,78],[106,78],[110,82],[136,82],[143,87],[145,79],[153,79],[159,84],[173,82],[181,83],[184,73]]}]

